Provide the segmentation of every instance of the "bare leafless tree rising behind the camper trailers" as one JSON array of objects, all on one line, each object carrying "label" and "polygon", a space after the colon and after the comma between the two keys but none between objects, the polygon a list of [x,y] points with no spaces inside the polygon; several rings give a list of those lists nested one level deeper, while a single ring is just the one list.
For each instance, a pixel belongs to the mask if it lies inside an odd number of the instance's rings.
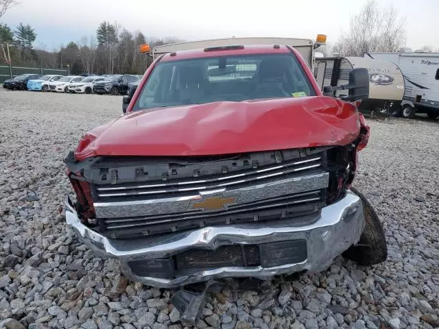
[{"label": "bare leafless tree rising behind the camper trailers", "polygon": [[363,56],[367,51],[397,51],[405,42],[405,19],[393,5],[379,8],[369,0],[361,12],[351,16],[349,31],[334,46],[341,56]]}]

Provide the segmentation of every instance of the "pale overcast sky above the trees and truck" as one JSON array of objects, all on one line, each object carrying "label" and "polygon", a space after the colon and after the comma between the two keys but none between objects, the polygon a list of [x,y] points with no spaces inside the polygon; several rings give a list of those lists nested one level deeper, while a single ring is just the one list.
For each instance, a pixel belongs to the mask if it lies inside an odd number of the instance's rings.
[{"label": "pale overcast sky above the trees and truck", "polygon": [[[348,29],[351,14],[366,0],[23,0],[0,23],[29,23],[38,34],[36,47],[47,50],[95,34],[102,21],[115,22],[145,36],[176,36],[185,40],[230,36],[312,38],[327,34],[335,43]],[[405,17],[406,46],[439,49],[439,0],[378,0],[394,4]]]}]

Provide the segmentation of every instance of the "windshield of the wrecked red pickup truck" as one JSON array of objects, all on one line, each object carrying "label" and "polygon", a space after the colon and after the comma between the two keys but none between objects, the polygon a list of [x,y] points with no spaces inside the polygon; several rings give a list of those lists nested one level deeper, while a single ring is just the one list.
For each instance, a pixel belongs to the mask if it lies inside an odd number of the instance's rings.
[{"label": "windshield of the wrecked red pickup truck", "polygon": [[133,110],[316,95],[292,53],[159,62]]}]

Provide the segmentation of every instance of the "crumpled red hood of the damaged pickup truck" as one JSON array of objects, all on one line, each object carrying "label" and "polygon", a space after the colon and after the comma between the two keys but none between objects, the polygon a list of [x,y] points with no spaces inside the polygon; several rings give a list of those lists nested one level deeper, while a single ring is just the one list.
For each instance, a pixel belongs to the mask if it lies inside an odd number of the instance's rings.
[{"label": "crumpled red hood of the damaged pickup truck", "polygon": [[346,145],[359,113],[331,97],[221,101],[138,111],[95,128],[75,156],[204,156]]}]

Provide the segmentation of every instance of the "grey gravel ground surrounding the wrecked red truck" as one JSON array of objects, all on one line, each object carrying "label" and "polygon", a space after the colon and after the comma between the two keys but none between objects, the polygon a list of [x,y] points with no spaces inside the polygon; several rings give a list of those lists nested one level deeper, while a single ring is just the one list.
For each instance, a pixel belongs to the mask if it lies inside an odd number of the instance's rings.
[{"label": "grey gravel ground surrounding the wrecked red truck", "polygon": [[[62,162],[121,97],[0,89],[0,322],[6,328],[183,328],[170,293],[129,282],[64,225]],[[439,327],[439,122],[368,121],[355,186],[376,207],[388,260],[209,296],[198,328]],[[0,324],[0,327],[1,327]]]}]

